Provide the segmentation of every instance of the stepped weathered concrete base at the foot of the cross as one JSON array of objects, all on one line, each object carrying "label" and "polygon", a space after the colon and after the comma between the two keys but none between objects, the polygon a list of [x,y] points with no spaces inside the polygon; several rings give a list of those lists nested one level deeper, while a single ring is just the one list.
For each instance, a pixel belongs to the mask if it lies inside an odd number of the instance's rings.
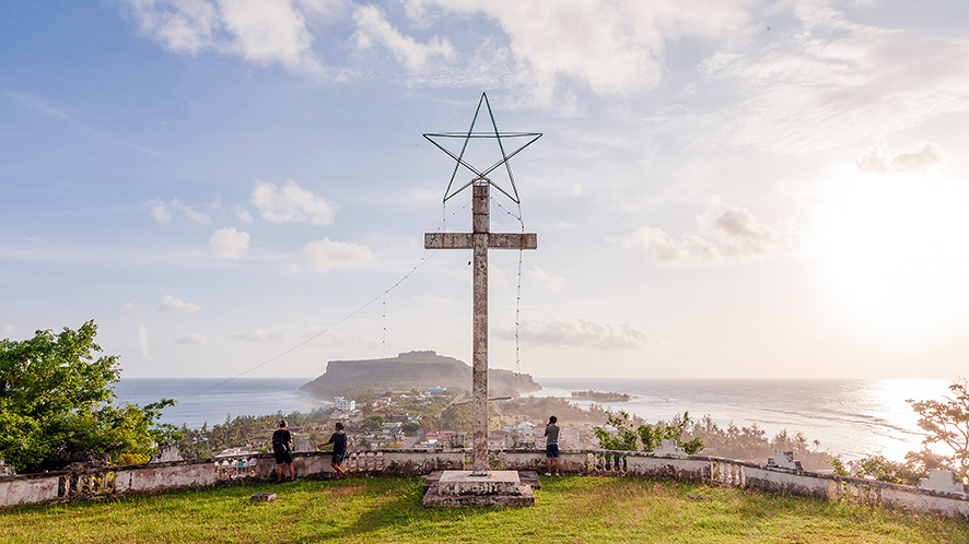
[{"label": "stepped weathered concrete base at the foot of the cross", "polygon": [[489,471],[472,475],[471,471],[443,471],[428,476],[425,507],[464,508],[468,506],[532,506],[535,494],[532,482],[517,471]]}]

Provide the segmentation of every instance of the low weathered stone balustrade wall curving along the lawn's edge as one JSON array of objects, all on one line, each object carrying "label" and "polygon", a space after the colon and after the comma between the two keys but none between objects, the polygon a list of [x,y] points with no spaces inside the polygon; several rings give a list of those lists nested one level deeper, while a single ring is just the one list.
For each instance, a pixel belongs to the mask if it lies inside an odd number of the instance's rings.
[{"label": "low weathered stone balustrade wall curving along the lawn's edge", "polygon": [[[348,456],[343,469],[373,475],[428,474],[464,469],[469,454],[469,450],[441,449],[360,451]],[[494,452],[492,458],[495,469],[545,472],[544,451],[505,450]],[[562,450],[559,464],[567,474],[690,480],[969,519],[967,487],[945,484],[945,477],[950,476],[938,474],[933,478],[938,476],[941,480],[936,480],[943,484],[935,482],[932,484],[935,488],[925,488],[807,472],[793,462],[791,466],[761,465],[682,453],[605,450]],[[249,453],[202,461],[4,476],[0,477],[0,507],[197,488],[237,478],[271,481],[276,478],[276,469],[271,454]],[[332,474],[330,453],[294,453],[293,469],[296,477],[329,477]]]}]

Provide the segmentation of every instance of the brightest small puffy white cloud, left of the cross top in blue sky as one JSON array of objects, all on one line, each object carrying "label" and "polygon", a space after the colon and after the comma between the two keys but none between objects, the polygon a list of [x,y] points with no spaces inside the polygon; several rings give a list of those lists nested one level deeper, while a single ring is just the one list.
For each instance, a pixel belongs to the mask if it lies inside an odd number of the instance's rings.
[{"label": "brightest small puffy white cloud, left of the cross top in blue sky", "polygon": [[292,179],[279,187],[256,180],[256,189],[249,200],[270,223],[310,221],[314,225],[329,225],[339,206],[301,188]]}]

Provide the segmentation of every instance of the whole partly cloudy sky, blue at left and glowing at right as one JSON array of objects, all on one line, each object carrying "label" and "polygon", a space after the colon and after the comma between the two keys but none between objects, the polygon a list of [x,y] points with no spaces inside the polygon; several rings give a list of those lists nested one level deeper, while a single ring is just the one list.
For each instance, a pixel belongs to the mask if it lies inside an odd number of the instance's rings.
[{"label": "whole partly cloudy sky, blue at left and glowing at right", "polygon": [[470,193],[422,134],[487,93],[544,134],[521,206],[492,191],[493,232],[538,235],[491,251],[492,367],[955,378],[967,28],[954,0],[8,0],[0,338],[94,320],[126,378],[470,362],[469,253],[423,249]]}]

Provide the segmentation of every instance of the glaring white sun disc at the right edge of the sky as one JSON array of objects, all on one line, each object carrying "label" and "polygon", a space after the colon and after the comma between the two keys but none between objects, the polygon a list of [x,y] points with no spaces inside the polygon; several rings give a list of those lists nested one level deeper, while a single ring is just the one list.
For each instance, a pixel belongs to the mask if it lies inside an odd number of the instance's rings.
[{"label": "glaring white sun disc at the right edge of the sky", "polygon": [[832,205],[819,249],[869,318],[932,324],[969,295],[969,199],[920,175],[860,176]]}]

